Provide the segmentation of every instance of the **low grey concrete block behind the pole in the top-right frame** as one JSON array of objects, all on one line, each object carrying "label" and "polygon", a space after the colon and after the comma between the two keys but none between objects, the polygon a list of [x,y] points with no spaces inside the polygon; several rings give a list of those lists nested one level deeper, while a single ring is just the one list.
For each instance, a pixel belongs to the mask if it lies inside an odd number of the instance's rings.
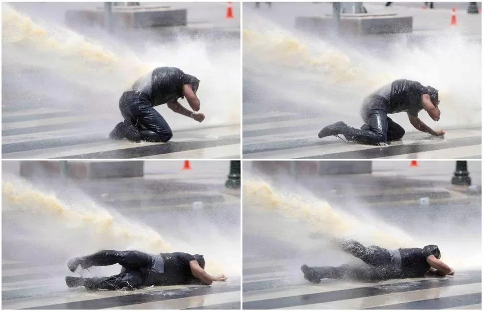
[{"label": "low grey concrete block behind the pole in the top-right frame", "polygon": [[[341,14],[339,27],[343,35],[406,33],[413,30],[413,17],[396,14]],[[333,16],[296,17],[296,29],[317,35],[331,33]]]}]

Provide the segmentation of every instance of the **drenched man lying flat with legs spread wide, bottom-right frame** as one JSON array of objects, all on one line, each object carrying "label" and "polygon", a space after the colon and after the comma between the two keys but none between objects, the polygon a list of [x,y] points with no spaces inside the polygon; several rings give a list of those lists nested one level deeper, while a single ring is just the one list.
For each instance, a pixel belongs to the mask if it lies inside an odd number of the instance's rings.
[{"label": "drenched man lying flat with legs spread wide, bottom-right frame", "polygon": [[400,248],[387,250],[378,246],[365,247],[354,240],[339,242],[342,249],[366,265],[339,267],[301,266],[304,278],[312,283],[321,279],[353,279],[379,281],[389,279],[419,278],[428,275],[454,275],[454,270],[442,262],[439,247],[427,245],[424,248]]}]

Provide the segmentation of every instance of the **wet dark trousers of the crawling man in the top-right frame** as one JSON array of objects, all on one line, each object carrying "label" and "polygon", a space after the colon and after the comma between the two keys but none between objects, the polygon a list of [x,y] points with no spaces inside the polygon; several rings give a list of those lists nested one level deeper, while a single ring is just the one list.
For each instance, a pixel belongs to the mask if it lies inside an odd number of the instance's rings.
[{"label": "wet dark trousers of the crawling man in the top-right frame", "polygon": [[405,130],[383,110],[370,110],[362,115],[365,124],[361,129],[348,127],[343,135],[349,141],[360,144],[379,145],[403,138]]}]

